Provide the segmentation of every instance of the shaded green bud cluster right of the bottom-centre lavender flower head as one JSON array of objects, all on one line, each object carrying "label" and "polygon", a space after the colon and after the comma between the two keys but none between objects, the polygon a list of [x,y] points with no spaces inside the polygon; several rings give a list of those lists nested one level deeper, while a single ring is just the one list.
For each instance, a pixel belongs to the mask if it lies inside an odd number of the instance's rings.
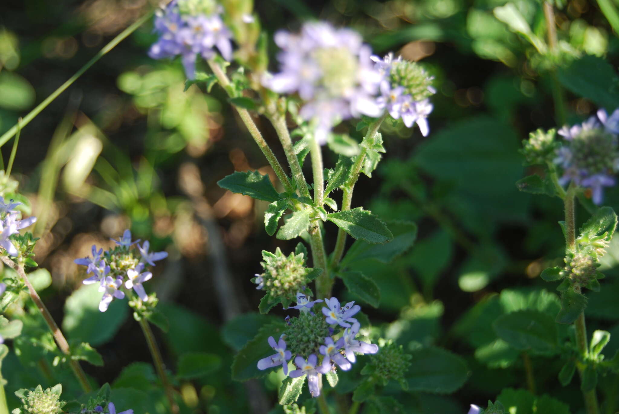
[{"label": "shaded green bud cluster right of the bottom-centre lavender flower head", "polygon": [[409,384],[404,378],[410,366],[412,356],[404,352],[402,345],[396,345],[393,340],[379,340],[380,352],[370,355],[370,363],[361,370],[363,375],[372,375],[384,386],[390,379],[400,383],[402,389],[408,389]]}]

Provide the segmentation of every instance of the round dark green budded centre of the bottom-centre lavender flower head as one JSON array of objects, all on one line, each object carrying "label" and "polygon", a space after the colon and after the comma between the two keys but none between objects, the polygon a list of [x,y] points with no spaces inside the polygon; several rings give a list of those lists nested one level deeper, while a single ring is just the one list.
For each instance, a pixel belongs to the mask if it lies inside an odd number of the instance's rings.
[{"label": "round dark green budded centre of the bottom-centre lavender flower head", "polygon": [[298,317],[290,319],[290,326],[284,331],[284,340],[292,355],[301,355],[307,358],[309,354],[321,355],[320,345],[324,345],[324,339],[329,334],[329,324],[320,314],[300,312]]}]

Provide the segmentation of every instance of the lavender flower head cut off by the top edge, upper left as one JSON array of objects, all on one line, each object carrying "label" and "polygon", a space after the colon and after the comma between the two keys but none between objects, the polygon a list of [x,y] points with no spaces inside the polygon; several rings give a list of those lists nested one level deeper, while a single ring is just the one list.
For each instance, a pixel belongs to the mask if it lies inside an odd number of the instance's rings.
[{"label": "lavender flower head cut off by the top edge, upper left", "polygon": [[150,47],[153,59],[181,55],[185,73],[195,77],[196,57],[215,56],[216,47],[224,59],[232,59],[232,32],[223,24],[221,7],[212,0],[172,0],[155,17],[155,32],[160,37]]}]

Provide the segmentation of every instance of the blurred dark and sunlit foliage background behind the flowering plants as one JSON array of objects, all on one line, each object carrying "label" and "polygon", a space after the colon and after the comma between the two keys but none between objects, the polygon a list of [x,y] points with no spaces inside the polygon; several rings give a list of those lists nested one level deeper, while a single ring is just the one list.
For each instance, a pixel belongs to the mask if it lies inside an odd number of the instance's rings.
[{"label": "blurred dark and sunlit foliage background behind the flowering plants", "polygon": [[[430,136],[387,123],[385,160],[373,179],[360,179],[353,200],[353,207],[367,206],[388,220],[413,220],[419,228],[413,248],[394,264],[368,259],[350,266],[363,268],[381,287],[379,308],[364,307],[374,331],[413,355],[420,344],[459,355],[442,361],[450,366],[441,382],[448,387],[428,389],[413,358],[410,391],[387,388],[409,413],[464,412],[469,403],[483,405],[504,387],[524,384],[529,356],[498,339],[492,322],[521,309],[555,316],[558,297],[539,274],[563,256],[556,224],[563,212],[558,199],[533,197],[514,186],[535,172],[525,171],[521,140],[529,131],[557,124],[553,76],[566,90],[571,123],[599,106],[610,111],[619,106],[617,0],[557,1],[560,41],[553,54],[544,49],[542,4],[505,4],[262,0],[254,5],[271,34],[308,19],[329,20],[360,31],[374,53],[396,51],[421,61],[436,77]],[[153,6],[146,0],[3,2],[0,133]],[[206,93],[196,85],[184,90],[180,62],[147,57],[155,40],[151,29],[146,24],[116,46],[22,131],[14,173],[39,217],[35,259],[46,270],[38,288],[67,337],[90,342],[102,354],[105,366],[85,368],[98,382],[112,384],[116,406],[124,407],[125,399],[136,413],[162,413],[163,395],[126,304],[113,303],[99,313],[97,292],[82,287],[84,275],[73,263],[89,254],[93,243],[105,248],[110,237],[131,228],[137,238],[150,239],[155,251],[170,255],[157,267],[151,287],[170,321],[167,334],[157,335],[165,343],[168,366],[178,373],[184,412],[266,412],[282,378],[272,373],[241,384],[232,381],[228,367],[233,351],[272,317],[256,314],[260,293],[249,283],[258,272],[260,251],[289,252],[297,242],[266,234],[264,202],[217,187],[235,170],[275,176],[222,90]],[[271,43],[271,56],[274,49]],[[283,160],[274,132],[262,119],[258,125]],[[352,125],[340,129],[359,137]],[[5,159],[9,151],[2,148]],[[327,166],[335,159],[326,153]],[[608,190],[605,204],[618,202],[619,190]],[[585,211],[579,210],[579,223]],[[334,244],[334,236],[330,231],[327,244]],[[619,349],[618,264],[615,240],[604,257],[608,278],[600,293],[590,294],[587,307],[590,331],[612,333],[609,355]],[[335,294],[344,289],[336,286]],[[55,345],[43,326],[25,326],[24,332],[15,340],[15,355],[2,364],[8,389],[62,382],[66,394],[78,394],[74,380],[53,369]],[[40,341],[33,345],[28,335]],[[565,340],[568,329],[559,335]],[[48,348],[40,345],[45,341]],[[195,353],[202,368],[181,369]],[[530,355],[540,394],[581,407],[576,381],[561,388],[552,374],[560,365],[548,369],[547,361]],[[355,370],[340,382],[337,392],[352,390]],[[607,397],[616,394],[617,377],[600,383]],[[12,392],[7,394],[9,405],[16,406]],[[608,401],[604,412],[619,410],[617,399]]]}]

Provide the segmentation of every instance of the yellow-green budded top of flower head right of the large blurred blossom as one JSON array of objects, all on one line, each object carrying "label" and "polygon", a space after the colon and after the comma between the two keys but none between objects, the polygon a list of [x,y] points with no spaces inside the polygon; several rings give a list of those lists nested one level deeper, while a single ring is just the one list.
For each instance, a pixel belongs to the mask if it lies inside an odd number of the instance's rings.
[{"label": "yellow-green budded top of flower head right of the large blurred blossom", "polygon": [[390,74],[391,87],[403,87],[404,94],[410,95],[413,101],[423,101],[433,94],[434,77],[418,63],[395,59]]}]

